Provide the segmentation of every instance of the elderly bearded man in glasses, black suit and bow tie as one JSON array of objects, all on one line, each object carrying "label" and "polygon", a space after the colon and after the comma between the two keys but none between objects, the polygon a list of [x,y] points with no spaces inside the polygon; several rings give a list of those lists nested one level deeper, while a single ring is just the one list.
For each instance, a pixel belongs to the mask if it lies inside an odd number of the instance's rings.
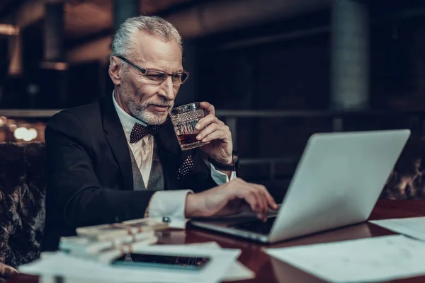
[{"label": "elderly bearded man in glasses, black suit and bow tie", "polygon": [[[45,130],[46,228],[43,250],[78,226],[142,217],[185,219],[236,212],[247,204],[260,219],[276,203],[261,185],[236,177],[229,128],[208,114],[197,139],[210,143],[181,151],[169,112],[188,72],[181,37],[158,17],[129,18],[113,39],[105,100],[64,110]],[[203,152],[201,152],[203,151]],[[210,157],[207,166],[202,155]]]}]

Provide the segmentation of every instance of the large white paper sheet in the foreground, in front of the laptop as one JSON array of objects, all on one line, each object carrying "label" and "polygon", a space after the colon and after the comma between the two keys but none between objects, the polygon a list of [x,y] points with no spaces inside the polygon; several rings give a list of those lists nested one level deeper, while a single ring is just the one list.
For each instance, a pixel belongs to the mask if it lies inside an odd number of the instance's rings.
[{"label": "large white paper sheet in the foreground, in front of the laptop", "polygon": [[380,282],[425,275],[425,243],[402,235],[264,251],[329,282]]}]

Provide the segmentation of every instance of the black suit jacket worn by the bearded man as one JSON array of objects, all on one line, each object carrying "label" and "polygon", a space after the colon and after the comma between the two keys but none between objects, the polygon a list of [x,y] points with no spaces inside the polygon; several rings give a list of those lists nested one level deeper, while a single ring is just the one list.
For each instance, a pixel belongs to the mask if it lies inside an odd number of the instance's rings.
[{"label": "black suit jacket worn by the bearded man", "polygon": [[[60,236],[79,226],[142,218],[153,190],[133,190],[130,149],[108,98],[54,115],[45,129],[47,152],[46,224],[42,250],[56,250]],[[164,190],[207,190],[216,183],[198,149],[181,151],[169,121],[155,135]],[[194,169],[177,180],[183,162]]]}]

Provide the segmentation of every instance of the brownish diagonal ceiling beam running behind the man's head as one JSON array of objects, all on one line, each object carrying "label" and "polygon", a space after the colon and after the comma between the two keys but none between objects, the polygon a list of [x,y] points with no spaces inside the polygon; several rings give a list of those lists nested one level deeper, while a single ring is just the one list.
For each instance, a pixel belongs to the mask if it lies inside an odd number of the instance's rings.
[{"label": "brownish diagonal ceiling beam running behind the man's head", "polygon": [[[307,11],[317,11],[319,8],[329,6],[329,1],[310,0],[303,2],[302,5],[298,0],[203,1],[203,5],[196,1],[196,4],[186,6],[182,10],[163,11],[158,15],[174,24],[181,36],[187,40],[203,35],[255,26],[281,18],[300,16]],[[79,52],[85,54],[84,60],[89,59],[89,57],[97,59],[100,54],[96,50],[109,50],[108,52],[111,52],[111,40],[106,40],[105,36],[98,36],[95,42],[87,42],[85,45],[70,49],[67,56],[69,64],[81,62],[76,60],[81,58]],[[112,33],[108,35],[108,37],[111,36]],[[108,44],[108,46],[102,44]],[[91,54],[89,54],[90,52]],[[106,56],[106,59],[108,58],[108,54],[104,54],[104,56]]]}]

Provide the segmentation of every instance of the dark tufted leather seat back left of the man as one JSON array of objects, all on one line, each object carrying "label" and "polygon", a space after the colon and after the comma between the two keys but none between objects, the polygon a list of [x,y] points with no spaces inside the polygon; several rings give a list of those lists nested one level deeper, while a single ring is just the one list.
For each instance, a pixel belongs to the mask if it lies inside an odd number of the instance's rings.
[{"label": "dark tufted leather seat back left of the man", "polygon": [[40,255],[45,223],[45,144],[0,143],[0,262]]}]

